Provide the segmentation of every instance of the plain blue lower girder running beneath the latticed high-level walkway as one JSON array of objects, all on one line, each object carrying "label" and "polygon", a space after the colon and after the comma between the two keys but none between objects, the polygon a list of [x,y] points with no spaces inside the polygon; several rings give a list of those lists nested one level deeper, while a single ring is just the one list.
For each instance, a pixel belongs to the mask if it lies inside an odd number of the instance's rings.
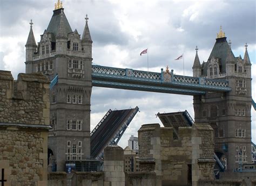
[{"label": "plain blue lower girder running beneath the latticed high-level walkway", "polygon": [[198,91],[198,90],[176,89],[176,88],[169,88],[169,87],[157,87],[157,86],[151,86],[151,85],[128,84],[128,83],[111,82],[111,81],[92,80],[92,85],[95,87],[162,92],[162,93],[169,93],[169,94],[182,94],[182,95],[204,95],[205,94],[205,91]]}]

